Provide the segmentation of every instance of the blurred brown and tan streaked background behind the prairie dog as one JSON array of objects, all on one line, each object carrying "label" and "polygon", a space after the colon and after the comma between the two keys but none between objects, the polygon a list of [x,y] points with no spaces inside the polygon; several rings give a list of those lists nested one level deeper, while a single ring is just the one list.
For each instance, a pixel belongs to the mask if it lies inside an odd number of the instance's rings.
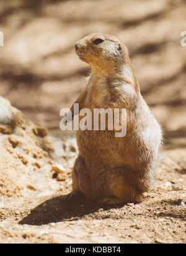
[{"label": "blurred brown and tan streaked background behind the prairie dog", "polygon": [[74,43],[91,32],[128,47],[141,93],[164,129],[165,147],[186,148],[184,0],[1,0],[0,95],[55,136],[89,66]]}]

